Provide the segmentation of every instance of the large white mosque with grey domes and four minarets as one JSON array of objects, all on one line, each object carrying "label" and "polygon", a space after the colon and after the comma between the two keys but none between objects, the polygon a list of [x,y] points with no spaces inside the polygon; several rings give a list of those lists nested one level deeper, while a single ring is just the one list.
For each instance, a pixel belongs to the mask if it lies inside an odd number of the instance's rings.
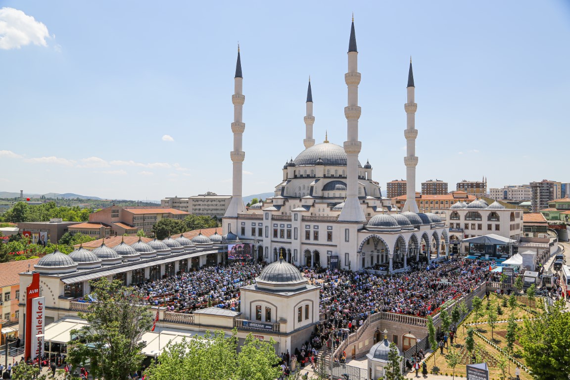
[{"label": "large white mosque with grey domes and four minarets", "polygon": [[257,260],[274,262],[283,256],[295,265],[320,266],[384,272],[404,271],[418,261],[431,261],[449,252],[449,229],[438,215],[419,213],[415,201],[416,137],[414,77],[410,60],[406,112],[407,155],[404,157],[408,192],[402,210],[382,198],[380,186],[372,176],[372,165],[361,165],[358,140],[360,73],[354,21],[348,44],[347,141],[343,146],[325,138],[313,138],[313,99],[311,82],[307,90],[307,115],[304,117],[305,149],[282,168],[282,182],[275,186],[274,197],[249,209],[242,201],[242,136],[245,123],[242,109],[243,75],[241,58],[235,70],[233,189],[230,205],[223,217],[223,232],[255,242]]}]

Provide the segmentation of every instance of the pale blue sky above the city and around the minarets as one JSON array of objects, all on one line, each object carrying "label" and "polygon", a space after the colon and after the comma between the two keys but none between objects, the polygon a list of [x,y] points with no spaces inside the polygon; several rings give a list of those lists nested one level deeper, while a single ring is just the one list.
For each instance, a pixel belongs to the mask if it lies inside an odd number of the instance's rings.
[{"label": "pale blue sky above the city and around the minarets", "polygon": [[315,140],[346,140],[352,12],[360,161],[382,189],[405,178],[410,55],[418,190],[570,182],[568,1],[276,4],[0,1],[0,191],[230,194],[238,40],[243,194],[272,191],[304,149],[309,75]]}]

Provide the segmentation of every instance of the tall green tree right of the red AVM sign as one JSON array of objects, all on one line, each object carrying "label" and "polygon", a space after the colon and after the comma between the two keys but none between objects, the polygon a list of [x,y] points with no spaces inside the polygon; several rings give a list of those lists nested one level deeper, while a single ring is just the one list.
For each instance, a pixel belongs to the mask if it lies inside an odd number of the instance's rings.
[{"label": "tall green tree right of the red AVM sign", "polygon": [[139,293],[118,280],[101,277],[89,285],[97,301],[87,313],[78,313],[89,325],[72,331],[82,338],[68,342],[68,358],[74,366],[89,360],[93,378],[123,380],[145,358],[141,337],[152,326],[152,313]]}]

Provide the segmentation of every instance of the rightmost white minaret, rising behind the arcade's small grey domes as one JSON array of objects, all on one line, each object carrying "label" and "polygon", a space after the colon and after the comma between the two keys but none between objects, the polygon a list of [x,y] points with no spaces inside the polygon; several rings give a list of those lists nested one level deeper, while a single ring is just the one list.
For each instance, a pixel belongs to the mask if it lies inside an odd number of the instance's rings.
[{"label": "rightmost white minaret, rising behind the arcade's small grey domes", "polygon": [[414,103],[414,73],[412,72],[412,57],[410,57],[410,71],[408,73],[408,103],[404,104],[406,110],[406,157],[404,164],[406,165],[406,203],[402,211],[412,211],[418,213],[418,204],[416,203],[416,166],[418,158],[416,157],[416,137],[418,130],[416,126],[416,110],[418,105]]}]

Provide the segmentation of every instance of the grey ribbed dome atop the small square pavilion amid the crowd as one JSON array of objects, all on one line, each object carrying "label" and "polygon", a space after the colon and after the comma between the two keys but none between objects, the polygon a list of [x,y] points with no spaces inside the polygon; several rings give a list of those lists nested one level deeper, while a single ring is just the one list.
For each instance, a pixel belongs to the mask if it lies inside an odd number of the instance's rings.
[{"label": "grey ribbed dome atop the small square pavilion amid the crowd", "polygon": [[287,263],[281,257],[267,265],[255,279],[258,288],[275,290],[292,290],[306,286],[307,279],[295,265]]}]

